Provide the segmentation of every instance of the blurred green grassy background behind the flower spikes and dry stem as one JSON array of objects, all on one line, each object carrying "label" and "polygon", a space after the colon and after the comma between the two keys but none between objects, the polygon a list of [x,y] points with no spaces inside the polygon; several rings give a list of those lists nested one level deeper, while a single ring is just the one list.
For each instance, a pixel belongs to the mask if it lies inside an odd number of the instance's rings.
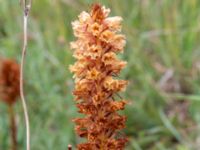
[{"label": "blurred green grassy background behind the flower spikes and dry stem", "polygon": [[[29,18],[25,93],[32,150],[66,150],[81,141],[71,120],[74,62],[71,22],[94,2],[122,16],[128,62],[121,78],[130,81],[123,97],[127,150],[200,149],[199,0],[33,0]],[[20,62],[22,8],[0,0],[0,56]],[[25,149],[21,101],[15,105],[19,149]],[[7,107],[0,105],[0,150],[9,149]]]}]

